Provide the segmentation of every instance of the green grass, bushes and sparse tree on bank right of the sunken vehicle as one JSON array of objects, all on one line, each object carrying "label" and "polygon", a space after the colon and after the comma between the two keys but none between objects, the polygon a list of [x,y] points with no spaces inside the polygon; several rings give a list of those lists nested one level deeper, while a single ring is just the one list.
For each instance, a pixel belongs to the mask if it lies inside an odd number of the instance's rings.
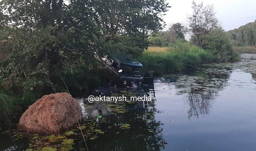
[{"label": "green grass, bushes and sparse tree on bank right of the sunken vehicle", "polygon": [[[201,63],[240,59],[232,49],[229,34],[219,25],[214,6],[193,2],[192,10],[188,27],[175,23],[168,31],[151,33],[149,41],[153,47],[167,48],[150,48],[137,58],[146,71],[153,68],[159,74],[167,74],[192,69]],[[186,33],[190,35],[189,42],[185,42]]]}]

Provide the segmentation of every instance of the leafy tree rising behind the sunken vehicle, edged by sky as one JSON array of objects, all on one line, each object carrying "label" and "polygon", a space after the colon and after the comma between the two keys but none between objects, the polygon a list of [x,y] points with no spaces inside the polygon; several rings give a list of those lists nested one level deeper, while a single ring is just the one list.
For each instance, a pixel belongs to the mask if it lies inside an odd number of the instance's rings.
[{"label": "leafy tree rising behind the sunken vehicle, edged by sky", "polygon": [[110,46],[112,50],[133,55],[147,49],[148,33],[162,29],[161,14],[169,8],[165,0],[100,0],[95,4],[98,25],[103,29],[107,44],[105,50],[110,50]]}]

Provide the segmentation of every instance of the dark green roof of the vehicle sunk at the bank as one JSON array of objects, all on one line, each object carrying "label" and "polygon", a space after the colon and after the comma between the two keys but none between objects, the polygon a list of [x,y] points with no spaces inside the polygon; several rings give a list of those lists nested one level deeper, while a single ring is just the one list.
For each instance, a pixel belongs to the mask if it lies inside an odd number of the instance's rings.
[{"label": "dark green roof of the vehicle sunk at the bank", "polygon": [[137,60],[131,58],[126,54],[116,54],[114,60],[120,62],[123,65],[133,66],[133,67],[143,67],[143,65]]}]

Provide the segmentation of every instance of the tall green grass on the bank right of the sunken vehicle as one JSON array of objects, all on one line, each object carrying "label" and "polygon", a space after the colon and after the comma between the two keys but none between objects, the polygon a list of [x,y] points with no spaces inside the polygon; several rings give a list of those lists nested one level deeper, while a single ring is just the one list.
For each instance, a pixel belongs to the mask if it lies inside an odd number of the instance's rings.
[{"label": "tall green grass on the bank right of the sunken vehicle", "polygon": [[177,42],[170,48],[151,49],[136,58],[143,64],[144,72],[156,69],[158,75],[190,70],[202,63],[214,62],[216,57],[208,51],[185,42]]}]

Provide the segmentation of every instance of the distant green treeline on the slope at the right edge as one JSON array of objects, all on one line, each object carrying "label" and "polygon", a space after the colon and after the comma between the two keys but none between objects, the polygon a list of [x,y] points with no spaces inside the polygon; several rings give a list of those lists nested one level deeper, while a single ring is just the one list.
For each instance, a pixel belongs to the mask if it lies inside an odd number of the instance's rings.
[{"label": "distant green treeline on the slope at the right edge", "polygon": [[229,30],[228,33],[235,46],[256,46],[256,20]]}]

